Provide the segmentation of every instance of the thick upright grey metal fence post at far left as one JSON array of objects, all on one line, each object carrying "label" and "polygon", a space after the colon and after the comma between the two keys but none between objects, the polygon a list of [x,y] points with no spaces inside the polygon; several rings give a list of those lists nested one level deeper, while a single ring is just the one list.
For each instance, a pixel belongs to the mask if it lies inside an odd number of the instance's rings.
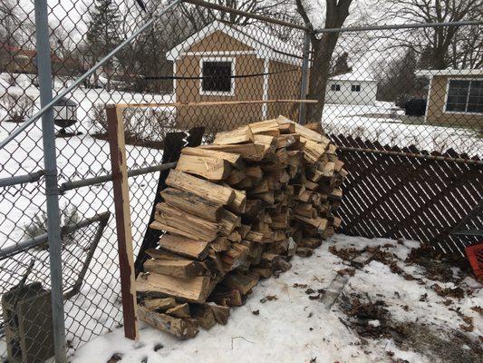
[{"label": "thick upright grey metal fence post at far left", "polygon": [[[53,87],[47,11],[47,0],[35,0],[37,69],[40,85],[40,103],[43,107],[52,102]],[[52,284],[53,351],[57,363],[66,363],[62,286],[62,239],[52,107],[47,109],[42,115],[42,136],[45,197],[47,200],[47,235],[49,239]]]}]

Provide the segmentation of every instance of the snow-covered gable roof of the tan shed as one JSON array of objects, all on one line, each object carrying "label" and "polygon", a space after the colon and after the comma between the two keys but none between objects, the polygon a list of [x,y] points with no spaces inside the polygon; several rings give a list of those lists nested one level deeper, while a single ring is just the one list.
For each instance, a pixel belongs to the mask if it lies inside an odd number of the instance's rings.
[{"label": "snow-covered gable roof of the tan shed", "polygon": [[[268,58],[287,64],[302,64],[302,50],[285,43],[275,35],[268,34],[255,26],[227,25],[218,20],[205,26],[198,31],[198,33],[189,36],[183,42],[169,50],[169,52],[166,53],[167,59],[169,61],[179,60],[181,56],[186,54],[192,45],[197,44],[208,35],[217,31],[227,34],[237,41],[253,48],[258,58]],[[207,52],[207,54],[208,53],[209,52]],[[238,51],[232,51],[231,53],[239,54]],[[229,55],[230,51],[223,52],[223,54]]]}]

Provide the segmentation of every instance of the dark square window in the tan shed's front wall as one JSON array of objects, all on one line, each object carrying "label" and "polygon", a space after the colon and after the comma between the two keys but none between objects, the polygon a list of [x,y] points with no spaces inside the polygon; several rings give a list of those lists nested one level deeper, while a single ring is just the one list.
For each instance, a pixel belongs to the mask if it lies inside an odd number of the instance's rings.
[{"label": "dark square window in the tan shed's front wall", "polygon": [[231,62],[204,61],[201,90],[204,92],[230,93],[232,81]]}]

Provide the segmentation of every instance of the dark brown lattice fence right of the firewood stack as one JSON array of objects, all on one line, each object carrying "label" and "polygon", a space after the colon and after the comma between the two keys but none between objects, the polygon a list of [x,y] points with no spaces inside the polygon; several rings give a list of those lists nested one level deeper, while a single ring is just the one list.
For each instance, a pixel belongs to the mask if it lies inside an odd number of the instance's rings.
[{"label": "dark brown lattice fence right of the firewood stack", "polygon": [[[453,150],[429,153],[350,136],[332,138],[346,147],[469,159]],[[339,156],[351,171],[343,184],[343,233],[421,240],[446,253],[463,253],[481,240],[481,165],[346,150]]]}]

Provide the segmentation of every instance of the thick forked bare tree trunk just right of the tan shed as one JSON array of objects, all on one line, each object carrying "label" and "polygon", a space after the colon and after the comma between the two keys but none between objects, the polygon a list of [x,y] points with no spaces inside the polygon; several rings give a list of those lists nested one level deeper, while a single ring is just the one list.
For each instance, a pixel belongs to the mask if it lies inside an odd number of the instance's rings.
[{"label": "thick forked bare tree trunk just right of the tan shed", "polygon": [[[333,52],[340,33],[323,33],[321,36],[314,34],[314,25],[311,22],[306,5],[302,0],[295,0],[297,11],[304,19],[305,26],[311,30],[310,41],[314,52],[310,74],[308,97],[318,103],[311,104],[307,108],[308,117],[314,122],[320,122],[324,112],[325,88],[331,75],[333,64]],[[340,28],[349,16],[349,8],[353,0],[326,0],[324,27],[326,29]]]}]

